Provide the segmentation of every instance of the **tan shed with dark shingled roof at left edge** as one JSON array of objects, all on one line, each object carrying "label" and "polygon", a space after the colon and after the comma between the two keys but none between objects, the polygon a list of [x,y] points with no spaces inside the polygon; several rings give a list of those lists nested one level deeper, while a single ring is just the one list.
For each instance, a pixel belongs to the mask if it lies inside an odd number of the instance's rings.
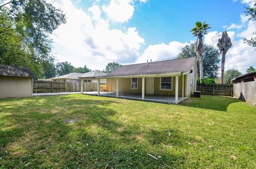
[{"label": "tan shed with dark shingled roof at left edge", "polygon": [[0,65],[0,98],[31,97],[33,77],[26,67]]}]

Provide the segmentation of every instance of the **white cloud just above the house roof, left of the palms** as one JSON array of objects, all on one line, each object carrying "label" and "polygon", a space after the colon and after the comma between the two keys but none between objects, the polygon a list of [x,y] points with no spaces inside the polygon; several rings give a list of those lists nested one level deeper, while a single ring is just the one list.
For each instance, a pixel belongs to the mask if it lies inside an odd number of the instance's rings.
[{"label": "white cloud just above the house roof, left of the palms", "polygon": [[183,47],[188,43],[180,43],[179,41],[171,41],[169,44],[149,45],[144,53],[138,58],[137,63],[144,63],[147,60],[161,61],[177,56]]}]

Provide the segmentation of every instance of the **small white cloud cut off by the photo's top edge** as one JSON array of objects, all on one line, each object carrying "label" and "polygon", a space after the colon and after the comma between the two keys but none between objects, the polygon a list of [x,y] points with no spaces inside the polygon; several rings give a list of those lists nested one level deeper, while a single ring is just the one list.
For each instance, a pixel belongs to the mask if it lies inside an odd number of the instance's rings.
[{"label": "small white cloud cut off by the photo's top edge", "polygon": [[109,5],[102,7],[108,17],[116,22],[127,22],[134,12],[133,0],[111,0]]}]

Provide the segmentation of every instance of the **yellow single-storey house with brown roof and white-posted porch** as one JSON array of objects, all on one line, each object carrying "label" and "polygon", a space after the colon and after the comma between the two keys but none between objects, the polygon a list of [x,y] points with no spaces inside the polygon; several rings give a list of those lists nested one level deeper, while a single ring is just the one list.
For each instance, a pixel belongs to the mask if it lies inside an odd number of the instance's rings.
[{"label": "yellow single-storey house with brown roof and white-posted porch", "polygon": [[178,104],[196,90],[196,78],[196,57],[124,65],[96,77],[107,79],[107,92],[98,82],[97,95]]}]

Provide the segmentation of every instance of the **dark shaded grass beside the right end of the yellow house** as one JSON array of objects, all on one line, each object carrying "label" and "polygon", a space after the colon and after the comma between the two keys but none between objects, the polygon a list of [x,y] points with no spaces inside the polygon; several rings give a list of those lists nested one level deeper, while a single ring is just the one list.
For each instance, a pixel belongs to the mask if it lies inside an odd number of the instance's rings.
[{"label": "dark shaded grass beside the right end of the yellow house", "polygon": [[227,112],[227,108],[230,104],[239,102],[242,101],[226,96],[202,95],[202,98],[191,98],[191,100],[185,100],[180,103],[180,105]]}]

